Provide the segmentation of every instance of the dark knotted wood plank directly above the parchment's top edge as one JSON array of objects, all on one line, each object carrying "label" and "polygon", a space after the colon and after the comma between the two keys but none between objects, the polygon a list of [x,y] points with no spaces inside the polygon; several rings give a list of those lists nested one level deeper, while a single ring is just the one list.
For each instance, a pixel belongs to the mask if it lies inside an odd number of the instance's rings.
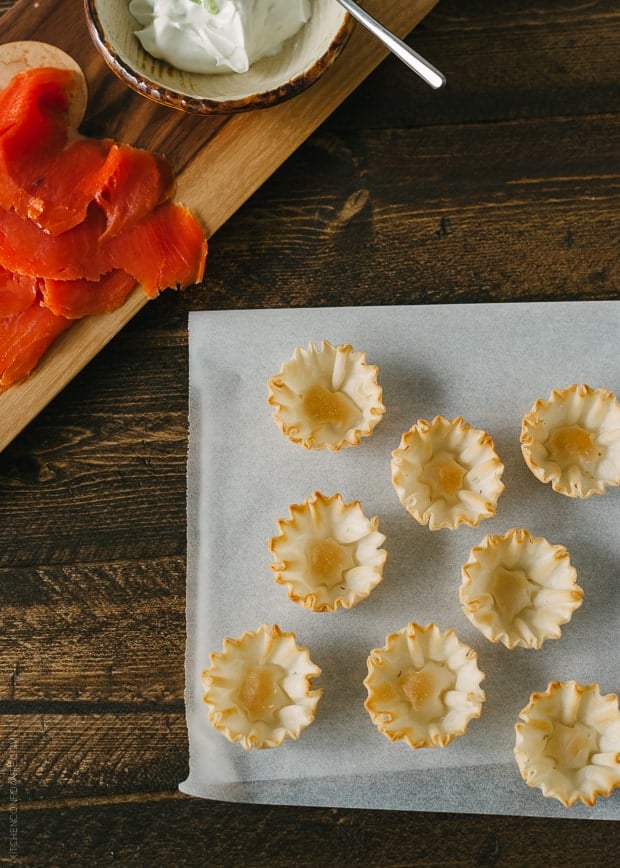
[{"label": "dark knotted wood plank directly above the parchment's top edge", "polygon": [[510,121],[324,129],[218,234],[208,290],[178,301],[617,297],[618,116],[535,119],[527,135]]}]

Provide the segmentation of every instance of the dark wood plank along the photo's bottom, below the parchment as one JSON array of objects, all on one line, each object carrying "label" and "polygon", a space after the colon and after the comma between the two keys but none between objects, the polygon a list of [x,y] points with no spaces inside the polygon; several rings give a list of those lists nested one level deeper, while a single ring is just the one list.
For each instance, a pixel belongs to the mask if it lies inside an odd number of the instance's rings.
[{"label": "dark wood plank along the photo's bottom, below the parchment", "polygon": [[22,858],[80,868],[84,854],[145,868],[602,868],[618,845],[617,824],[600,822],[143,799],[22,811]]}]

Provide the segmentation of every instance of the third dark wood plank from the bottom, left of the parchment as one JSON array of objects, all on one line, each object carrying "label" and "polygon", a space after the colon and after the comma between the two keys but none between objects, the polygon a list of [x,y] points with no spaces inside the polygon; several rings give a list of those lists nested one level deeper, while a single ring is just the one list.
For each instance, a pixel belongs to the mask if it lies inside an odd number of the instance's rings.
[{"label": "third dark wood plank from the bottom, left of the parchment", "polygon": [[183,710],[185,560],[0,570],[0,702]]}]

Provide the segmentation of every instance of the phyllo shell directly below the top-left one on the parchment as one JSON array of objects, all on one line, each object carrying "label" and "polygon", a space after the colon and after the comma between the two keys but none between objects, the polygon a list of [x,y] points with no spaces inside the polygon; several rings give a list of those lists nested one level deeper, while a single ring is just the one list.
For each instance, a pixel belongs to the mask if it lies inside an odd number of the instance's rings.
[{"label": "phyllo shell directly below the top-left one on the parchment", "polygon": [[379,519],[366,518],[359,501],[315,492],[289,507],[269,541],[275,580],[295,603],[314,612],[350,609],[383,579],[387,551]]}]

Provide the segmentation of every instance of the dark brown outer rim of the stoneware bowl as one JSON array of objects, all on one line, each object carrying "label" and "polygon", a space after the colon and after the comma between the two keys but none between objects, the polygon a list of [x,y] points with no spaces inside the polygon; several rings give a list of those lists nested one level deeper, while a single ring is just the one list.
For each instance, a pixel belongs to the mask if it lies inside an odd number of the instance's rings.
[{"label": "dark brown outer rim of the stoneware bowl", "polygon": [[343,20],[338,32],[332,38],[327,51],[310,67],[299,72],[278,87],[260,91],[251,96],[234,99],[215,99],[195,97],[167,87],[150,78],[143,72],[137,73],[126,61],[122,60],[107,41],[96,0],[83,0],[84,14],[90,37],[112,72],[131,90],[153,102],[180,111],[199,115],[228,115],[254,109],[270,108],[278,103],[292,99],[306,90],[323,75],[341,53],[353,32],[355,20],[343,10]]}]

